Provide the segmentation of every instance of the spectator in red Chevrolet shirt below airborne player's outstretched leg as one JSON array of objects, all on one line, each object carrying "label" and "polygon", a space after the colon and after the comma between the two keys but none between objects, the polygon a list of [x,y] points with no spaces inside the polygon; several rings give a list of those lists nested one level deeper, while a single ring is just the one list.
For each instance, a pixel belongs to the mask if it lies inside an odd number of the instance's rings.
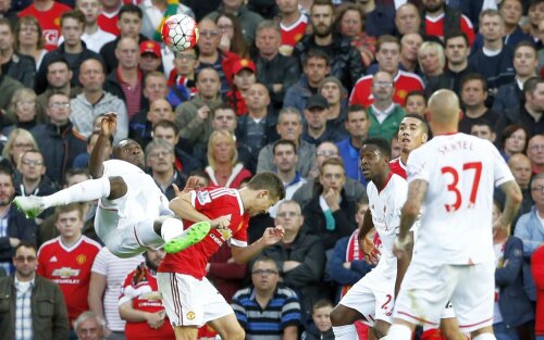
[{"label": "spectator in red Chevrolet shirt below airborne player's outstretched leg", "polygon": [[60,236],[44,243],[38,251],[38,275],[59,285],[70,324],[89,310],[90,268],[100,244],[82,235],[83,210],[78,203],[57,207]]}]

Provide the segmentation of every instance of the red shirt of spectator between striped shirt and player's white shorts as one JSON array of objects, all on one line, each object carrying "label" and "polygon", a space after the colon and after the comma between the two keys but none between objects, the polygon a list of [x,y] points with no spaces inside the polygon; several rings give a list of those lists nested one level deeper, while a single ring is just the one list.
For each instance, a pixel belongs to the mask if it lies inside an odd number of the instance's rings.
[{"label": "red shirt of spectator between striped shirt and player's white shorts", "polygon": [[[132,301],[133,308],[148,313],[164,311],[162,300],[159,294],[157,276],[144,264],[131,272],[123,284],[119,305]],[[174,329],[170,325],[166,316],[164,324],[159,329],[149,327],[146,322],[126,323],[126,339],[138,340],[174,340]]]}]

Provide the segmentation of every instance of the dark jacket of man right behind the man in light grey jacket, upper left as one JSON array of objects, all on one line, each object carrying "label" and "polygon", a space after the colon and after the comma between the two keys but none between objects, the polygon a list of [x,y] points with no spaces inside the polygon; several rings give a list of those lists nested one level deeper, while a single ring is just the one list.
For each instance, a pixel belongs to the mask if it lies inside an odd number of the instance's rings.
[{"label": "dark jacket of man right behind the man in light grey jacket, upper left", "polygon": [[79,84],[79,66],[84,61],[86,61],[87,59],[96,59],[100,61],[102,65],[104,64],[104,61],[102,56],[100,56],[100,54],[89,50],[84,41],[82,41],[82,45],[83,51],[79,54],[70,54],[70,56],[66,56],[67,53],[64,50],[64,42],[62,42],[55,50],[52,50],[51,52],[44,55],[44,60],[41,61],[38,73],[36,74],[36,95],[40,95],[47,89],[47,67],[53,60],[59,60],[60,58],[66,60],[70,66],[70,71],[72,71],[72,80],[70,81],[70,84],[75,87],[82,86]]}]

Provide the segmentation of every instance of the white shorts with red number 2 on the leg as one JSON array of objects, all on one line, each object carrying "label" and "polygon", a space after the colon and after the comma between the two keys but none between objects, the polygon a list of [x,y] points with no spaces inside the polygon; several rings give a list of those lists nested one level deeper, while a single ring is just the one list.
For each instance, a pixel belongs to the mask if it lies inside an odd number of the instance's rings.
[{"label": "white shorts with red number 2 on the leg", "polygon": [[361,313],[362,323],[373,327],[375,319],[392,323],[394,295],[395,278],[392,280],[372,270],[348,290],[339,304]]}]

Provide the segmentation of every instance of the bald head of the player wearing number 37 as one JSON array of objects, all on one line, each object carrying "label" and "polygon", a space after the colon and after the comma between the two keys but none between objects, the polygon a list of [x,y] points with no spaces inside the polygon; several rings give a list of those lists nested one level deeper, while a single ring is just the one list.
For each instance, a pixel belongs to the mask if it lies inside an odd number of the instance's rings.
[{"label": "bald head of the player wearing number 37", "polygon": [[429,99],[426,121],[431,125],[432,130],[438,128],[443,133],[443,129],[452,129],[454,127],[457,130],[460,116],[459,99],[454,91],[437,90]]}]

